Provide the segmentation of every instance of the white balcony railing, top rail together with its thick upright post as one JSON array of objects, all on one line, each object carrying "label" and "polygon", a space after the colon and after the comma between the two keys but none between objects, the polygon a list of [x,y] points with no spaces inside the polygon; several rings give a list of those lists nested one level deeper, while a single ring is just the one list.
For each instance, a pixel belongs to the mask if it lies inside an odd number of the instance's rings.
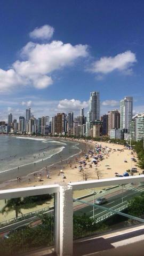
[{"label": "white balcony railing, top rail together with its thick upright post", "polygon": [[56,184],[50,186],[0,190],[0,200],[54,193],[54,251],[60,256],[70,256],[73,255],[73,191],[140,182],[144,182],[144,175],[71,182],[65,186]]}]

